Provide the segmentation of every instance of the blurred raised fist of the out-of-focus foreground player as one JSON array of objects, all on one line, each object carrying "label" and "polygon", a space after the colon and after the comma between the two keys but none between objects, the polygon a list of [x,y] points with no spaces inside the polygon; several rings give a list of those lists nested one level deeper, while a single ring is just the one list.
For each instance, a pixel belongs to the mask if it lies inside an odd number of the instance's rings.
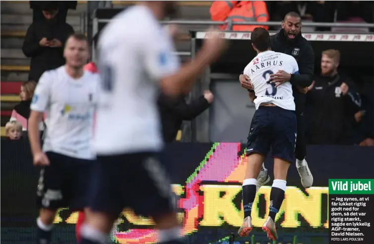
[{"label": "blurred raised fist of the out-of-focus foreground player", "polygon": [[202,50],[205,55],[210,58],[210,61],[213,62],[225,51],[227,47],[227,40],[220,36],[220,32],[209,29],[208,38],[205,39],[202,46]]}]

